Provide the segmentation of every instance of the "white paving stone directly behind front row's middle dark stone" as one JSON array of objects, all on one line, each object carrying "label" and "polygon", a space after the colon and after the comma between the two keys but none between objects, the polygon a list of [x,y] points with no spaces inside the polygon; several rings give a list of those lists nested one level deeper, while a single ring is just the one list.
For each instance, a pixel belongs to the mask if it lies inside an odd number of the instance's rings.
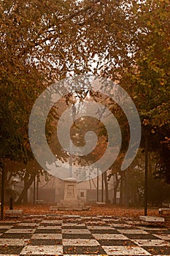
[{"label": "white paving stone directly behind front row's middle dark stone", "polygon": [[63,246],[98,246],[95,239],[63,239]]}]

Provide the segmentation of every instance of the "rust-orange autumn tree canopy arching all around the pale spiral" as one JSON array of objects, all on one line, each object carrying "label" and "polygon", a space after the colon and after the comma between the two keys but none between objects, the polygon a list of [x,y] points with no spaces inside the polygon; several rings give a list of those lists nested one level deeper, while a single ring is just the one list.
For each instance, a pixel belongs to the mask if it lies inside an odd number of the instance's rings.
[{"label": "rust-orange autumn tree canopy arching all around the pale spiral", "polygon": [[[28,118],[39,94],[69,75],[94,74],[118,80],[131,95],[142,122],[141,147],[148,140],[158,154],[158,176],[170,183],[169,9],[168,0],[1,1],[1,170],[9,160],[33,159]],[[113,102],[109,109],[121,120],[125,138],[120,163],[128,124]],[[48,128],[50,140],[53,126]],[[26,187],[18,202],[37,173],[43,174],[38,165],[20,172]]]}]

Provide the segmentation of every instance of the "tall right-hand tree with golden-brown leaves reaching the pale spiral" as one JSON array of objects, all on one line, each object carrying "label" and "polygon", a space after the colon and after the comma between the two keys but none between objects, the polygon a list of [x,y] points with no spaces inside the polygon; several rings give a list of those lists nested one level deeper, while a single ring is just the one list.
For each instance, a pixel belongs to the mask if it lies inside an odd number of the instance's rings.
[{"label": "tall right-hand tree with golden-brown leaves reaching the pale spiral", "polygon": [[[160,170],[168,182],[169,162],[165,161],[165,155],[169,159],[170,151],[168,143],[163,142],[169,140],[170,128],[169,8],[166,0],[131,1],[129,6],[127,4],[126,15],[132,31],[126,43],[129,43],[131,61],[124,67],[124,72],[117,72],[120,85],[128,91],[139,110],[141,147],[145,147],[145,141],[149,151],[158,153]],[[115,71],[107,67],[102,74],[115,78]]]}]

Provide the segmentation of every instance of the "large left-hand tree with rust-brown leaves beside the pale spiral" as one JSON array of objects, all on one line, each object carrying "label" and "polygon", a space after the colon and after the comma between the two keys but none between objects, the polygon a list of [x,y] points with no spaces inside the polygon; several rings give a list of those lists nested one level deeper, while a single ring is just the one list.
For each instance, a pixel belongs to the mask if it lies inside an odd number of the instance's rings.
[{"label": "large left-hand tree with rust-brown leaves beside the pale spiral", "polygon": [[[78,53],[85,50],[80,49],[79,31],[73,29],[74,16],[89,7],[77,8],[76,1],[1,1],[3,169],[5,159],[27,162],[32,158],[28,118],[39,94],[54,80],[65,78],[68,71],[77,72],[83,66]],[[28,184],[34,174],[30,178]]]}]

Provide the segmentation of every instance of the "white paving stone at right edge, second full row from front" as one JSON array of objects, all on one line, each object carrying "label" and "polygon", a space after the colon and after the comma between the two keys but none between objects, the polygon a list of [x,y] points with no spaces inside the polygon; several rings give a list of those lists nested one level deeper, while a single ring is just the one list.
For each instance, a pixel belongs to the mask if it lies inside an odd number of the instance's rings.
[{"label": "white paving stone at right edge, second full row from front", "polygon": [[158,239],[136,239],[132,240],[138,246],[169,246],[168,241],[158,240]]}]

